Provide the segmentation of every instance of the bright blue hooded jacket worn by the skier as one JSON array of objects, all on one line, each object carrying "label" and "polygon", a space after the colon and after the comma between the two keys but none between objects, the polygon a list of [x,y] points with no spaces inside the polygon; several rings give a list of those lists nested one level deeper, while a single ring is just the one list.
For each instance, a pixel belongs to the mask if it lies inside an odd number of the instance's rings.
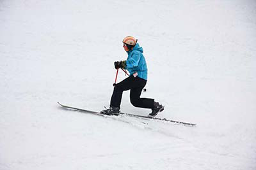
[{"label": "bright blue hooded jacket worn by the skier", "polygon": [[137,43],[132,50],[129,50],[126,60],[126,67],[130,73],[130,76],[134,73],[138,73],[138,77],[147,80],[148,69],[145,57],[143,55],[143,48]]}]

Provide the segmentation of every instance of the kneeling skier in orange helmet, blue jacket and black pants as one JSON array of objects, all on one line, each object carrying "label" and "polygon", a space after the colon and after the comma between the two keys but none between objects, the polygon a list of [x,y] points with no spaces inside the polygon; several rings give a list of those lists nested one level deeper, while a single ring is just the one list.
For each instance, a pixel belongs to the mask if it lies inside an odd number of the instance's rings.
[{"label": "kneeling skier in orange helmet, blue jacket and black pants", "polygon": [[164,106],[154,101],[154,99],[140,98],[141,92],[147,83],[147,63],[143,55],[143,48],[137,41],[138,39],[132,36],[123,39],[123,47],[128,54],[127,60],[116,61],[114,64],[115,69],[127,69],[130,76],[115,85],[110,106],[108,109],[102,110],[102,113],[118,115],[122,94],[126,90],[130,90],[130,101],[133,106],[152,110],[148,117],[155,117],[157,113],[164,110]]}]

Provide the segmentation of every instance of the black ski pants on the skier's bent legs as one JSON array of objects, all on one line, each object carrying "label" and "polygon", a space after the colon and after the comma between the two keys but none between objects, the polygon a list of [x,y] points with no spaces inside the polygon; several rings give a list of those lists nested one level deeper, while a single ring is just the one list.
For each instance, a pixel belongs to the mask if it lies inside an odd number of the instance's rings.
[{"label": "black ski pants on the skier's bent legs", "polygon": [[110,106],[120,107],[122,94],[126,90],[130,91],[130,101],[133,106],[138,108],[154,108],[154,99],[140,98],[141,92],[145,87],[147,80],[133,75],[115,85]]}]

